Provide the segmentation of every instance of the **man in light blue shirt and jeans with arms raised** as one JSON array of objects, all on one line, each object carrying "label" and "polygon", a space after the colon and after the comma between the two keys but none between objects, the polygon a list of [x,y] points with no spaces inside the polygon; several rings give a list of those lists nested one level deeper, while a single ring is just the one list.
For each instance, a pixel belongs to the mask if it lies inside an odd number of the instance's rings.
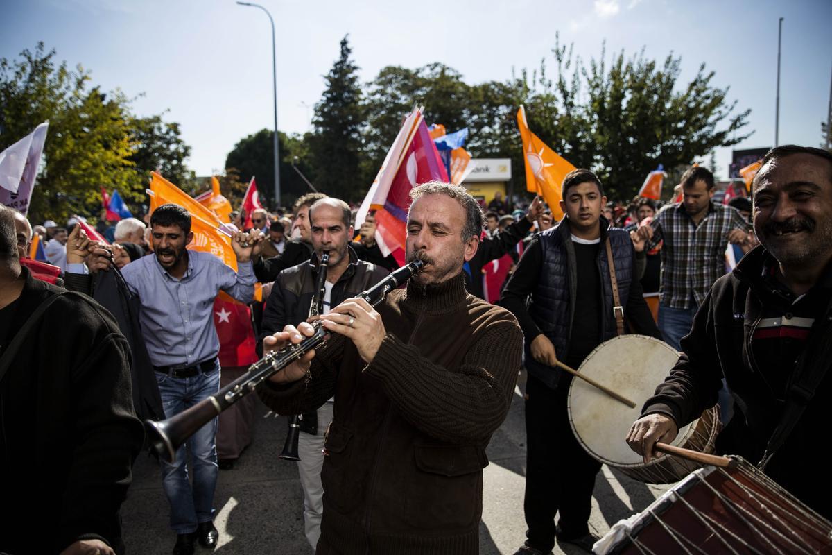
[{"label": "man in light blue shirt and jeans with arms raised", "polygon": [[[220,290],[249,303],[255,276],[251,250],[262,240],[260,231],[238,232],[231,241],[237,272],[207,252],[186,250],[194,234],[191,215],[181,206],[166,204],[151,216],[153,256],[131,262],[121,270],[141,301],[141,330],[159,385],[166,418],[199,403],[219,390],[220,341],[213,320]],[[217,462],[216,419],[188,440],[193,462],[193,487],[188,481],[186,446],[172,463],[162,461],[162,483],[171,505],[171,528],[176,532],[173,553],[193,553],[194,541],[214,547],[213,524]]]}]

